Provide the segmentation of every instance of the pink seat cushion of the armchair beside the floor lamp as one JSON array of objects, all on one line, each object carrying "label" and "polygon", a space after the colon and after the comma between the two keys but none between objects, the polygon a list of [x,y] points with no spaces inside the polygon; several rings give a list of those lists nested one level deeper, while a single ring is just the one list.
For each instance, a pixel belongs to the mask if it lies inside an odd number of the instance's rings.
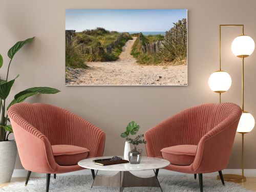
[{"label": "pink seat cushion of the armchair beside the floor lamp", "polygon": [[175,165],[190,165],[193,163],[197,145],[175,145],[161,150],[164,159]]}]

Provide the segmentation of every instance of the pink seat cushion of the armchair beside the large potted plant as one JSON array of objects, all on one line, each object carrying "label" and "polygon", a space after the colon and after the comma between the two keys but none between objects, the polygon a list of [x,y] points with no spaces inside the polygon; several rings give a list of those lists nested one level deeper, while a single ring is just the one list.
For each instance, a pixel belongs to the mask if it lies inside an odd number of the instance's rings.
[{"label": "pink seat cushion of the armchair beside the large potted plant", "polygon": [[78,161],[87,158],[89,150],[74,145],[52,145],[52,152],[59,165],[76,165]]}]

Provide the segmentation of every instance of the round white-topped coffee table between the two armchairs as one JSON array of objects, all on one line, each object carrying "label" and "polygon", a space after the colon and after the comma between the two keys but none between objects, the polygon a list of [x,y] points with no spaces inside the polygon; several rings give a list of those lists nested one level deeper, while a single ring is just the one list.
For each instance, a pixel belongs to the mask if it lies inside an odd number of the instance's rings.
[{"label": "round white-topped coffee table between the two armchairs", "polygon": [[[119,191],[123,191],[124,187],[160,187],[157,179],[159,168],[166,167],[170,164],[169,161],[153,158],[153,157],[142,157],[140,164],[131,164],[131,163],[122,163],[116,165],[107,165],[101,166],[94,164],[93,160],[96,159],[106,159],[112,157],[97,157],[97,158],[89,158],[84,159],[78,162],[78,165],[84,168],[89,168],[92,170],[93,174],[93,186],[114,186],[118,187]],[[156,170],[155,170],[156,169]],[[96,175],[94,176],[94,170],[97,170]],[[114,176],[99,176],[97,175],[98,170],[105,171],[118,171],[118,173]],[[155,176],[148,178],[137,177],[130,173],[130,171],[138,171],[138,170],[153,170]],[[92,188],[91,187],[91,188]]]}]

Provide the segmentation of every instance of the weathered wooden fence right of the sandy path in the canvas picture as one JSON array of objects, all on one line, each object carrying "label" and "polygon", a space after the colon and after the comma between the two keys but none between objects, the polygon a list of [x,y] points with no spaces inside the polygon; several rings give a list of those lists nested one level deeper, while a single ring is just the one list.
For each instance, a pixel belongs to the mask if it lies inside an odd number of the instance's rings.
[{"label": "weathered wooden fence right of the sandy path in the canvas picture", "polygon": [[164,40],[158,40],[156,42],[153,42],[152,44],[144,44],[142,42],[142,33],[139,35],[139,40],[141,43],[141,50],[143,53],[157,53],[162,47],[165,42],[168,41],[179,41],[179,43],[186,44],[186,31],[187,31],[187,25],[186,25],[186,18],[183,18],[182,20],[179,20],[173,28],[171,28],[169,31],[165,32]]}]

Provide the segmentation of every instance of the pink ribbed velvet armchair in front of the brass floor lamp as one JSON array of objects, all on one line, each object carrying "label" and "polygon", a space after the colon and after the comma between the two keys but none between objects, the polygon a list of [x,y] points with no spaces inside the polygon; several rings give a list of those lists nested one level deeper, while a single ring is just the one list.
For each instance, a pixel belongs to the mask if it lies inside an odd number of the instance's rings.
[{"label": "pink ribbed velvet armchair in front of the brass floor lamp", "polygon": [[[199,174],[203,191],[204,173],[226,168],[241,108],[233,103],[207,103],[181,111],[145,132],[149,157],[170,161],[165,169]],[[158,170],[157,170],[158,173]]]}]

